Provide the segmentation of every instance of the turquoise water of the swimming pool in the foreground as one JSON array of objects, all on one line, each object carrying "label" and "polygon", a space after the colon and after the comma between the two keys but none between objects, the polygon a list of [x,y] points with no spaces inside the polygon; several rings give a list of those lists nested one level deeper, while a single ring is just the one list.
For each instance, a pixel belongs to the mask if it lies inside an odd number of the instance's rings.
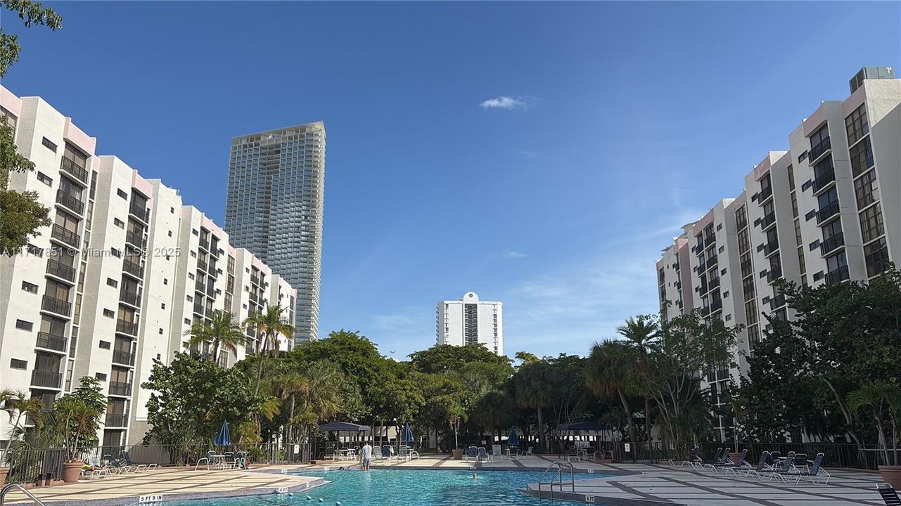
[{"label": "turquoise water of the swimming pool in the foreground", "polygon": [[[322,476],[332,482],[306,492],[287,495],[266,495],[231,499],[199,501],[204,506],[506,506],[537,505],[540,502],[524,497],[516,489],[538,481],[541,472],[532,471],[473,471],[375,469],[372,471],[330,471],[304,473]],[[576,479],[598,478],[604,474],[576,474]],[[569,478],[569,474],[567,475]],[[306,496],[312,497],[307,501]],[[197,505],[198,501],[178,506]],[[549,504],[544,501],[544,504]]]}]

